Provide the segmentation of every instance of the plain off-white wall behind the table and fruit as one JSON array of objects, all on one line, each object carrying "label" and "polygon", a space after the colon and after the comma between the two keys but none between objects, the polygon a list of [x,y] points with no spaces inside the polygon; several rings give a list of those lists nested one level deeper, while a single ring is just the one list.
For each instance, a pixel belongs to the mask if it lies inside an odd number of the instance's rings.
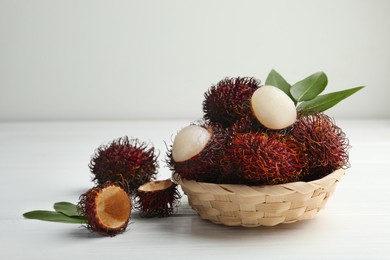
[{"label": "plain off-white wall behind the table and fruit", "polygon": [[329,110],[390,117],[390,1],[0,0],[0,121],[197,119],[225,76],[326,92]]}]

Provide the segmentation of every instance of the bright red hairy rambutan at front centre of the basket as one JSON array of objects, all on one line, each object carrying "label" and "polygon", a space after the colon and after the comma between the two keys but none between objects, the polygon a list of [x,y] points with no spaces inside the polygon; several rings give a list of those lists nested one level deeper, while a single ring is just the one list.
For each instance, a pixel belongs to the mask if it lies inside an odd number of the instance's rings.
[{"label": "bright red hairy rambutan at front centre of the basket", "polygon": [[270,185],[298,181],[307,158],[292,136],[279,133],[237,133],[221,160],[220,183]]}]

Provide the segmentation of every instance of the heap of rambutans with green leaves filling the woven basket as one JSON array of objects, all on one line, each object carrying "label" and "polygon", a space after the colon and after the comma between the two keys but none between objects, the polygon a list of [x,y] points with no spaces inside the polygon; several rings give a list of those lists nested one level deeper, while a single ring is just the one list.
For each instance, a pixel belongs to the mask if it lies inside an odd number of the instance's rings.
[{"label": "heap of rambutans with green leaves filling the woven basket", "polygon": [[272,185],[322,178],[349,167],[345,133],[324,111],[363,87],[320,95],[318,72],[290,85],[275,70],[266,84],[225,78],[204,94],[202,120],[181,129],[167,152],[188,180]]}]

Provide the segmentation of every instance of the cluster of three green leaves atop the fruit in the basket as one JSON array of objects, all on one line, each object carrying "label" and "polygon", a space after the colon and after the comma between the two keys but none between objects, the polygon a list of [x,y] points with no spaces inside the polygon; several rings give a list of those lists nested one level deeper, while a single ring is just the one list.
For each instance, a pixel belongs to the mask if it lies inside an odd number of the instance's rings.
[{"label": "cluster of three green leaves atop the fruit in the basket", "polygon": [[359,86],[321,95],[328,85],[324,72],[314,73],[290,85],[276,70],[271,70],[265,84],[281,89],[294,101],[297,110],[304,112],[323,112],[364,88]]}]

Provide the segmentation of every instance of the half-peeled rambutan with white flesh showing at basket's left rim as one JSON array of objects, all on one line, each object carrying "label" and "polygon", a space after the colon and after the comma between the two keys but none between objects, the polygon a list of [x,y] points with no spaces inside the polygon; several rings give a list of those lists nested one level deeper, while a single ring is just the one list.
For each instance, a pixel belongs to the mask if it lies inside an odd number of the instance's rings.
[{"label": "half-peeled rambutan with white flesh showing at basket's left rim", "polygon": [[189,125],[179,131],[168,150],[168,167],[185,179],[215,182],[225,144],[225,130],[220,126]]}]

